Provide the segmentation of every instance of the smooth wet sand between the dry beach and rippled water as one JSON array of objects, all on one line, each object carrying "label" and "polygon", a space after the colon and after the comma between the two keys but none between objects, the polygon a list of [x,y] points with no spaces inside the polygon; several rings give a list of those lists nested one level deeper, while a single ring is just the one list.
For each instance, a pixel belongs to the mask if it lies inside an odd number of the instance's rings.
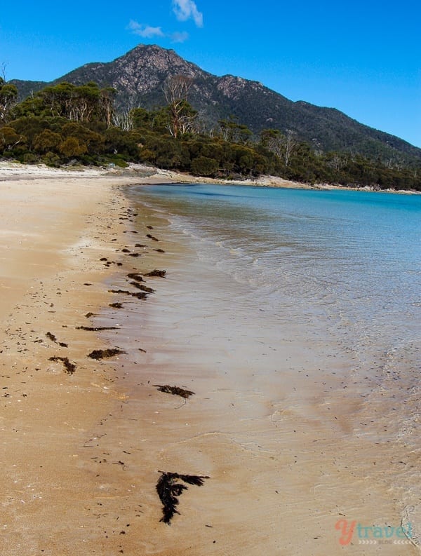
[{"label": "smooth wet sand between the dry beach and rippled water", "polygon": [[[126,325],[139,330],[147,350],[144,365],[127,377],[135,399],[126,410],[135,407],[147,445],[133,459],[210,479],[191,498],[183,494],[169,536],[156,529],[152,491],[145,511],[154,532],[140,533],[145,553],[337,554],[339,520],[400,527],[390,449],[354,433],[365,400],[349,356],[326,338],[307,337],[301,325],[268,330],[263,313],[256,314],[255,337],[243,334],[248,288],[234,292],[224,284],[162,216],[148,222],[166,251],[168,275]],[[177,384],[195,395],[184,403],[151,384]],[[375,549],[396,554],[389,540]],[[355,534],[343,550],[370,554],[373,546]],[[400,554],[416,552],[399,547]]]}]

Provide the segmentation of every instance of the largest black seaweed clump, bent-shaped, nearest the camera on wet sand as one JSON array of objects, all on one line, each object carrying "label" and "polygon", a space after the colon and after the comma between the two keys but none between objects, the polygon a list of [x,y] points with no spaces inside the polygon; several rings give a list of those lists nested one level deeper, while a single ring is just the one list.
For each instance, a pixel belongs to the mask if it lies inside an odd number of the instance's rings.
[{"label": "largest black seaweed clump, bent-shaped, nearest the camera on wet sand", "polygon": [[185,484],[176,481],[180,479],[187,484],[195,484],[197,487],[201,487],[203,480],[209,477],[208,475],[179,475],[179,473],[166,473],[164,471],[159,471],[159,473],[161,473],[161,477],[156,483],[156,492],[159,500],[163,503],[163,516],[159,521],[171,525],[174,514],[178,513],[180,515],[176,508],[178,506],[178,496],[188,488]]}]

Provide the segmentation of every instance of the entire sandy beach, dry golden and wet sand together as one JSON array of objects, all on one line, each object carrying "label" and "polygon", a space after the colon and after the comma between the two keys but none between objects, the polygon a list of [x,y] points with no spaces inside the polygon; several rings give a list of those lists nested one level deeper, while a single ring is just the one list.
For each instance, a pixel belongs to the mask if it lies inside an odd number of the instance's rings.
[{"label": "entire sandy beach, dry golden and wet sand together", "polygon": [[[376,465],[387,473],[387,449],[373,461],[361,442],[338,447],[356,410],[338,378],[322,373],[306,397],[304,373],[287,374],[288,388],[252,375],[244,386],[235,354],[229,376],[216,367],[203,324],[216,313],[192,297],[206,295],[204,276],[189,276],[191,254],[165,219],[123,194],[173,179],[0,167],[2,555],[416,554],[339,543],[338,517],[369,525],[380,507],[394,523],[399,508],[386,482],[367,478]],[[145,291],[128,273],[153,269],[173,276],[145,276],[158,294],[134,297]],[[248,349],[234,335],[214,341],[227,360],[229,341]],[[88,357],[109,348],[121,353]],[[311,375],[311,348],[270,356]],[[194,395],[156,388],[166,384]],[[160,522],[162,471],[209,477],[182,492],[171,527]]]}]

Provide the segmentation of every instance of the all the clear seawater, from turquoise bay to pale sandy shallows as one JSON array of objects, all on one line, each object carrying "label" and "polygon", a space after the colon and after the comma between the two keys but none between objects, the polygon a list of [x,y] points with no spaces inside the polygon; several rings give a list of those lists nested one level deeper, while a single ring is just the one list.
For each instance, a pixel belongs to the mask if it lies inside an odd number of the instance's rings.
[{"label": "all the clear seawater, from turquoise bay to pale sandy shallows", "polygon": [[[152,232],[170,248],[145,305],[158,315],[148,372],[171,362],[200,376],[210,363],[223,388],[204,399],[232,396],[220,411],[232,420],[210,427],[228,430],[244,465],[252,453],[261,473],[260,449],[282,476],[290,450],[308,462],[285,481],[307,477],[300,516],[323,484],[323,511],[411,522],[421,545],[421,196],[201,184],[128,196],[170,222]],[[172,241],[188,248],[178,266]]]}]

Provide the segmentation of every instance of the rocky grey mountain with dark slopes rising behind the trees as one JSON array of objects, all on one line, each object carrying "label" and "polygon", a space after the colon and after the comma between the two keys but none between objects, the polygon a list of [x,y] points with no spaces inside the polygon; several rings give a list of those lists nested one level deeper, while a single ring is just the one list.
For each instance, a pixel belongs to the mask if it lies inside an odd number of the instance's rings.
[{"label": "rocky grey mountain with dark slopes rising behind the trees", "polygon": [[120,109],[151,109],[166,104],[163,82],[168,76],[189,76],[192,87],[188,100],[201,117],[213,126],[234,116],[255,135],[267,128],[283,133],[291,130],[300,140],[323,151],[352,151],[383,161],[421,162],[421,149],[349,118],[337,109],[309,102],[293,102],[259,83],[232,75],[222,77],[187,62],[174,50],[156,45],[139,45],[113,62],[93,62],[74,69],[51,83],[11,81],[23,99],[46,85],[68,81],[81,85],[95,81],[116,89]]}]

